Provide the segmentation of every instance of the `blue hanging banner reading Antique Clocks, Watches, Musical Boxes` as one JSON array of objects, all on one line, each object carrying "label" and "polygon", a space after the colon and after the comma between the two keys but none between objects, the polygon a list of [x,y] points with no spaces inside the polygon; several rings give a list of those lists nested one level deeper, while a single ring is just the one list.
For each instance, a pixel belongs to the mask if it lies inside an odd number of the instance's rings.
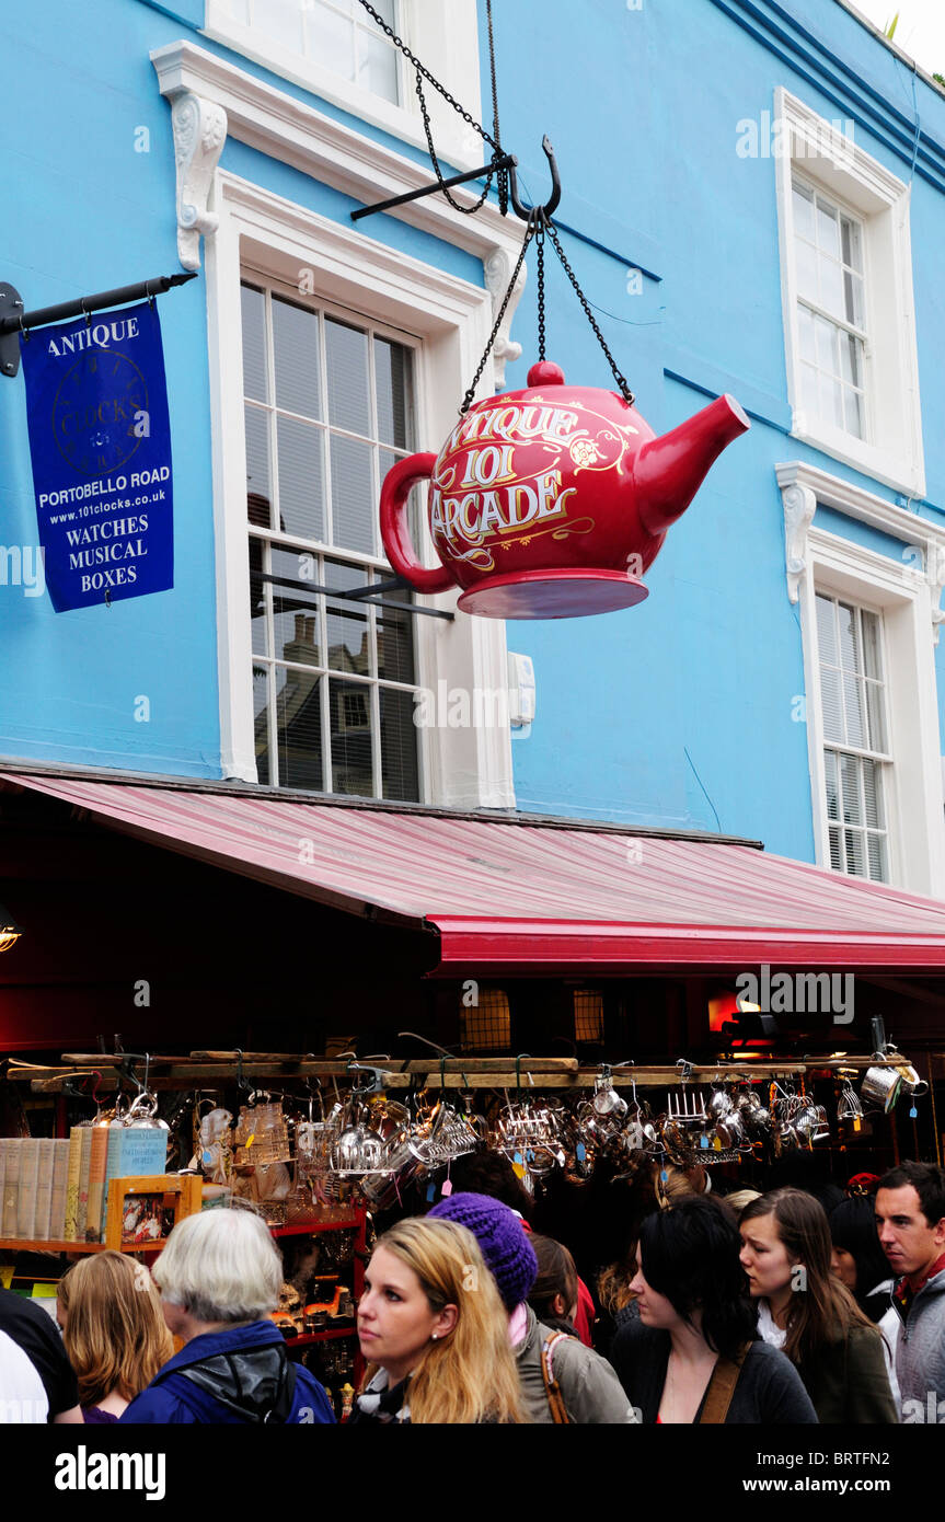
[{"label": "blue hanging banner reading Antique Clocks, Watches, Musical Boxes", "polygon": [[157,304],[20,338],[46,584],[56,613],[173,586]]}]

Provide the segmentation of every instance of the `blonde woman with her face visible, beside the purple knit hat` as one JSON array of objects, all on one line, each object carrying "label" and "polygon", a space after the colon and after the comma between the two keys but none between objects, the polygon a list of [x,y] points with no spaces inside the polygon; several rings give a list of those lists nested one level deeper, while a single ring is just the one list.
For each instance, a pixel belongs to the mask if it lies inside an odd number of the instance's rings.
[{"label": "blonde woman with her face visible, beside the purple knit hat", "polygon": [[400,1221],[358,1304],[367,1359],[350,1422],[522,1422],[508,1317],[472,1231]]}]

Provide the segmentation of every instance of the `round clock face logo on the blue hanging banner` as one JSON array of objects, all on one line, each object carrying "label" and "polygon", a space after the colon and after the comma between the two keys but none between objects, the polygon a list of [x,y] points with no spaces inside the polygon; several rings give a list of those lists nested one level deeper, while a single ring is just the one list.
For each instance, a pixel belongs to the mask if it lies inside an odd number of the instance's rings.
[{"label": "round clock face logo on the blue hanging banner", "polygon": [[85,353],[64,374],[53,403],[59,454],[84,476],[117,470],[142,444],[134,431],[142,412],[148,384],[135,362],[113,349]]}]

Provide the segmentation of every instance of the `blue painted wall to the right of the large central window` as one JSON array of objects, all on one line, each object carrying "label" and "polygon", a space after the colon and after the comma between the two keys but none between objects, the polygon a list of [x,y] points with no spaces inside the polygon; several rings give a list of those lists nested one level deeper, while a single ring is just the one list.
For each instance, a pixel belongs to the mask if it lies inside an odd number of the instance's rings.
[{"label": "blue painted wall to the right of the large central window", "polygon": [[[648,601],[607,618],[508,626],[510,645],[533,656],[539,705],[530,738],[513,746],[519,807],[732,831],[813,860],[807,731],[796,721],[800,629],[775,464],[805,460],[896,493],[787,437],[775,160],[738,157],[738,122],[772,114],[784,85],[828,120],[854,119],[857,143],[912,177],[928,489],[918,511],[940,519],[945,100],[916,82],[924,146],[913,177],[912,72],[832,0],[590,0],[563,49],[569,15],[545,6],[534,43],[516,50],[520,23],[496,8],[499,58],[516,56],[514,82],[508,65],[501,76],[504,142],[527,158],[540,198],[540,134],[551,135],[565,183],[555,219],[604,245],[565,236],[648,422],[663,431],[730,390],[753,426],[670,531]],[[628,295],[627,266],[644,262],[660,279]],[[549,353],[572,379],[607,385],[557,268],[552,282]],[[510,387],[525,384],[534,332],[530,288]],[[817,522],[901,557],[898,540],[840,513],[820,510]],[[945,651],[937,661],[945,691]]]}]

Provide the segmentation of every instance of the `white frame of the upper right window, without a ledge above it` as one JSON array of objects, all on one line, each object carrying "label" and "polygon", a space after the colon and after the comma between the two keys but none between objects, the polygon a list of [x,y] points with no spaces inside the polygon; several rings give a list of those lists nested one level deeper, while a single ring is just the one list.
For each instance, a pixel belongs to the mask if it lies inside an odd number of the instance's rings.
[{"label": "white frame of the upper right window, without a ledge above it", "polygon": [[[907,496],[925,495],[919,364],[908,227],[910,189],[878,160],[787,90],[775,91],[782,122],[775,154],[781,291],[791,434]],[[867,438],[803,408],[794,265],[793,170],[863,224]]]}]

